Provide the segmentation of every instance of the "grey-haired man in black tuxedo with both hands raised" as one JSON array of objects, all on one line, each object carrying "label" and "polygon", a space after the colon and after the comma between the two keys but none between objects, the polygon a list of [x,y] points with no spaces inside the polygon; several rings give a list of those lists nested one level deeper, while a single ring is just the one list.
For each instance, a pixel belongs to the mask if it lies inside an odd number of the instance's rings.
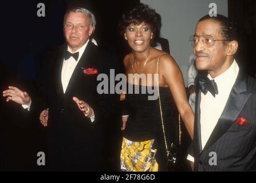
[{"label": "grey-haired man in black tuxedo with both hands raised", "polygon": [[[46,163],[51,170],[94,171],[104,164],[104,125],[118,98],[97,92],[97,75],[109,76],[110,69],[116,69],[116,57],[90,42],[92,33],[92,13],[69,9],[64,18],[67,44],[47,58],[40,121],[48,127]],[[31,112],[38,109],[37,99],[18,88],[10,87],[4,96]]]}]

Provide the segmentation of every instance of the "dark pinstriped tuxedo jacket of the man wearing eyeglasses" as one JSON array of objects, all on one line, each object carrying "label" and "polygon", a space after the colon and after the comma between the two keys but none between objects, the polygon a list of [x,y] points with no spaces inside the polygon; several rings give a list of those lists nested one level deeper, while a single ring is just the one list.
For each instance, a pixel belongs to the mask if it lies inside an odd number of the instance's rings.
[{"label": "dark pinstriped tuxedo jacket of the man wearing eyeglasses", "polygon": [[[230,92],[225,109],[204,149],[200,133],[200,87],[196,86],[196,110],[193,140],[195,171],[256,170],[256,80],[241,72]],[[210,109],[209,109],[210,110]],[[248,125],[239,125],[245,117]],[[216,153],[217,165],[212,165]]]}]

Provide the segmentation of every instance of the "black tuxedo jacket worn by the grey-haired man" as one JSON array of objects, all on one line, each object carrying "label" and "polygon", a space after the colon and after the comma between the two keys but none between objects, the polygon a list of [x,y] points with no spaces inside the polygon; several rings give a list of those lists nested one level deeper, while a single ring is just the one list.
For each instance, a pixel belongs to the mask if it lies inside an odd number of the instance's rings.
[{"label": "black tuxedo jacket worn by the grey-haired man", "polygon": [[[107,74],[110,69],[117,73],[116,58],[89,42],[64,94],[61,70],[64,50],[58,47],[46,61],[46,72],[41,79],[45,105],[49,108],[48,153],[46,160],[52,170],[101,170],[104,157],[104,125],[113,114],[118,101],[116,94],[98,94],[97,75]],[[96,69],[97,74],[85,74],[84,69]],[[95,121],[84,117],[73,97],[87,102],[95,114]],[[32,99],[33,101],[33,99]],[[32,102],[31,110],[38,108]],[[107,124],[108,125],[108,124]]]}]

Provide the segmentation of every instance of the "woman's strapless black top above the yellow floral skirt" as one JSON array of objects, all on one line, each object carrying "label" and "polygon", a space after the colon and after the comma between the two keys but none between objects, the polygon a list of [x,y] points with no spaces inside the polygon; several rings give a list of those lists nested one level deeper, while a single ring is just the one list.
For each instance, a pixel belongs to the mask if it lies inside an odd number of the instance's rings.
[{"label": "woman's strapless black top above the yellow floral skirt", "polygon": [[[154,139],[153,148],[157,149],[155,158],[159,165],[159,171],[167,171],[167,154],[160,117],[159,98],[157,97],[157,100],[148,100],[148,96],[152,96],[152,94],[148,93],[148,87],[152,90],[151,86],[128,84],[128,87],[133,87],[133,91],[135,86],[139,86],[141,89],[139,94],[128,93],[125,97],[125,105],[129,117],[124,130],[124,138],[133,142]],[[141,93],[143,90],[146,91],[145,94]],[[175,103],[169,87],[159,87],[159,92],[167,143],[174,142],[178,137],[174,117]]]}]

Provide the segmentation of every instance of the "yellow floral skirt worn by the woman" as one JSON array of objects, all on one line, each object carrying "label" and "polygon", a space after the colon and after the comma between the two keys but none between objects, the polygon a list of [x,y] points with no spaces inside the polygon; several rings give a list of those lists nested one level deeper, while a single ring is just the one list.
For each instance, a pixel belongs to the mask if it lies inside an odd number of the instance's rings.
[{"label": "yellow floral skirt worn by the woman", "polygon": [[123,138],[121,149],[121,170],[124,172],[157,172],[154,140],[133,142]]}]

